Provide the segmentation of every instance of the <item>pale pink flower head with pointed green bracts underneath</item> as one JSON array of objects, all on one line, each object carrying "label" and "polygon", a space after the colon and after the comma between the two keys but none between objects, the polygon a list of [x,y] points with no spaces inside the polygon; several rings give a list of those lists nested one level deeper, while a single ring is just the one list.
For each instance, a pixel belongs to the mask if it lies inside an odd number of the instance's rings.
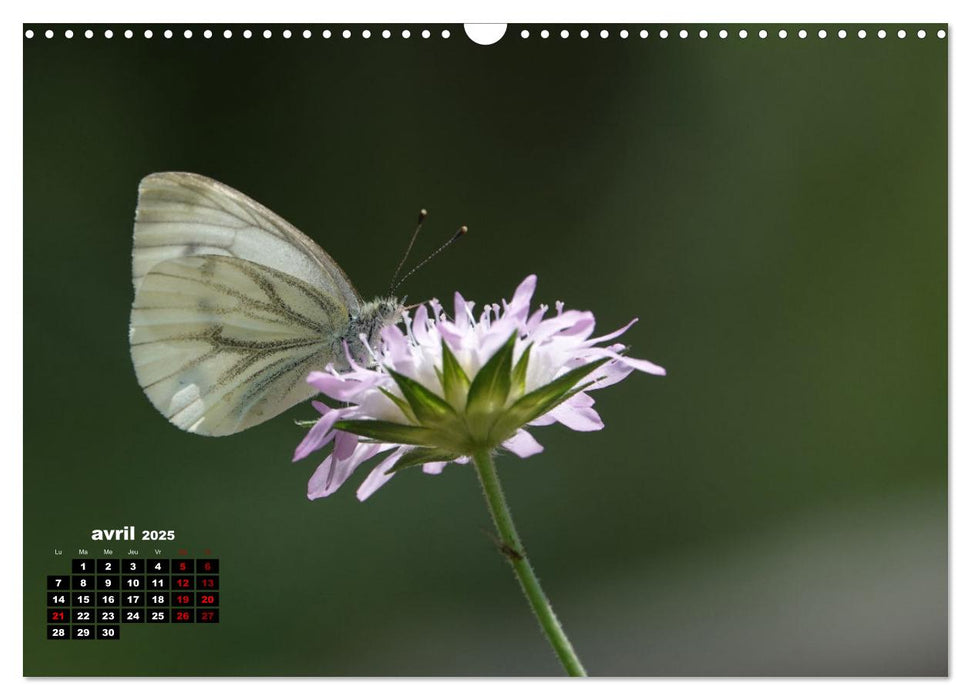
[{"label": "pale pink flower head with pointed green bracts underneath", "polygon": [[[562,423],[573,430],[603,428],[590,392],[615,384],[634,370],[664,375],[647,360],[623,354],[608,341],[636,321],[591,338],[589,311],[530,312],[536,276],[512,301],[491,304],[475,316],[474,303],[455,295],[454,318],[437,301],[420,305],[405,329],[386,327],[373,366],[348,354],[350,369],[328,365],[307,378],[322,394],[347,404],[315,401],[321,417],[297,447],[294,460],[333,443],[310,479],[308,497],[329,496],[362,463],[381,455],[361,486],[364,500],[395,473],[422,465],[438,474],[449,462],[465,464],[476,450],[502,447],[519,457],[543,451],[527,427]],[[362,339],[363,340],[363,339]]]}]

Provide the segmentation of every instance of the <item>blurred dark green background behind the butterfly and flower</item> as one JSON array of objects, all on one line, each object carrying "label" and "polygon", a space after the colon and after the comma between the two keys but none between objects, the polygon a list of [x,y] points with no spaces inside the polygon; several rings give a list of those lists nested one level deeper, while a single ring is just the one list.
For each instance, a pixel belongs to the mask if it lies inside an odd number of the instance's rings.
[{"label": "blurred dark green background behind the butterfly and flower", "polygon": [[[182,433],[127,341],[136,187],[242,190],[365,296],[413,226],[411,300],[595,311],[668,376],[597,396],[606,429],[499,461],[595,675],[947,673],[947,40],[300,37],[24,42],[24,672],[559,675],[474,473],[363,469],[306,500],[301,406]],[[594,36],[600,25],[587,27]],[[650,38],[637,32],[646,28]],[[90,530],[175,528],[221,558],[216,626],[54,643],[44,577]],[[53,549],[66,550],[55,557]],[[169,548],[167,553],[174,555]]]}]

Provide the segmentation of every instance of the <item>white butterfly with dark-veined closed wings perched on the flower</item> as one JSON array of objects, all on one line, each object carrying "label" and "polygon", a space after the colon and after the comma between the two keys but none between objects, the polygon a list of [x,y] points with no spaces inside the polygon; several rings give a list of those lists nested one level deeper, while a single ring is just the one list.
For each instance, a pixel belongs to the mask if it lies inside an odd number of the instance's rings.
[{"label": "white butterfly with dark-veined closed wings perched on the flower", "polygon": [[132,362],[152,405],[200,435],[231,435],[315,393],[305,379],[365,361],[400,318],[364,302],[340,266],[291,224],[192,173],[138,187],[132,252]]}]

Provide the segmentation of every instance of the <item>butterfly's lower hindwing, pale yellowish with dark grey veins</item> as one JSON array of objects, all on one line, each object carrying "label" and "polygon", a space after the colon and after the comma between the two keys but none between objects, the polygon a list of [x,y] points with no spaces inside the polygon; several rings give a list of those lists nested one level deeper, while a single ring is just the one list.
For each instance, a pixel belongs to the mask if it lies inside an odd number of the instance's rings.
[{"label": "butterfly's lower hindwing, pale yellowish with dark grey veins", "polygon": [[309,398],[339,358],[348,309],[302,279],[226,255],[176,257],[143,275],[131,315],[138,383],[173,424],[230,435]]}]

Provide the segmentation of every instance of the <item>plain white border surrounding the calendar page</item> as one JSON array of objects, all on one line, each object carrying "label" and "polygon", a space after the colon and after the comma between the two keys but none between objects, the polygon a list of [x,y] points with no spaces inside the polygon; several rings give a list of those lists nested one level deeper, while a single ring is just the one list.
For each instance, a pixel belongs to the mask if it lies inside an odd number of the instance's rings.
[{"label": "plain white border surrounding the calendar page", "polygon": [[[922,0],[921,2],[885,2],[874,11],[869,5],[854,5],[845,0],[814,0],[812,3],[776,3],[737,1],[732,3],[694,2],[691,4],[679,2],[660,6],[656,3],[632,4],[629,0],[597,0],[596,3],[583,3],[565,6],[555,2],[529,2],[528,0],[496,0],[488,3],[458,3],[458,2],[428,2],[413,0],[407,3],[391,0],[374,0],[368,3],[307,3],[306,0],[273,0],[273,2],[250,4],[241,6],[238,2],[199,3],[198,0],[167,0],[164,5],[158,3],[132,3],[89,1],[83,4],[70,3],[66,0],[58,2],[36,2],[21,5],[13,10],[4,8],[9,21],[2,25],[4,30],[2,72],[6,88],[2,94],[14,96],[19,101],[13,107],[5,110],[7,120],[3,130],[3,162],[4,170],[3,201],[8,212],[16,215],[5,217],[7,221],[21,222],[23,231],[23,180],[22,180],[22,38],[15,36],[20,32],[21,22],[272,22],[301,20],[305,23],[341,23],[341,22],[449,22],[463,21],[479,22],[518,22],[532,23],[543,21],[555,22],[644,22],[644,23],[698,23],[698,22],[848,22],[869,23],[872,21],[886,21],[888,23],[952,22],[949,27],[949,45],[951,47],[951,123],[971,123],[968,118],[968,83],[966,77],[969,72],[967,44],[962,41],[962,32],[967,32],[969,25],[964,22],[964,14],[958,9],[957,3]],[[964,117],[959,115],[964,114]],[[951,133],[952,184],[951,192],[967,192],[968,146],[967,137],[963,132],[953,130]],[[952,200],[952,242],[950,284],[953,314],[950,316],[951,348],[953,357],[957,361],[950,365],[951,398],[951,435],[952,464],[951,477],[951,543],[952,559],[950,568],[950,588],[954,590],[969,590],[968,585],[968,541],[969,541],[969,509],[966,479],[969,466],[969,396],[971,396],[971,380],[967,364],[961,362],[967,359],[967,350],[971,344],[971,253],[967,242],[967,197]],[[956,225],[955,225],[956,224]],[[963,226],[962,226],[963,225]],[[964,234],[963,236],[961,234]],[[19,323],[21,338],[23,334],[23,246],[22,236],[15,237],[12,232],[4,238],[7,250],[0,256],[4,265],[0,275],[3,285],[3,318],[8,325],[16,319]],[[18,533],[18,542],[22,555],[22,464],[23,464],[23,430],[21,409],[23,406],[23,357],[22,345],[4,347],[2,359],[9,368],[6,376],[15,377],[13,397],[2,402],[2,429],[6,444],[14,445],[13,462],[19,465],[14,475],[14,487],[4,489],[7,501],[3,509],[3,519],[7,531]],[[13,368],[19,368],[15,374]],[[8,384],[9,386],[9,384]],[[56,397],[51,397],[56,400]],[[963,468],[961,468],[963,467]],[[11,468],[16,469],[16,466]],[[959,507],[960,504],[960,507]],[[8,548],[9,549],[9,548]],[[971,683],[968,675],[971,666],[968,664],[968,634],[969,616],[968,604],[958,596],[951,596],[951,675],[952,680],[809,680],[809,681],[774,681],[774,680],[593,680],[584,682],[568,681],[397,681],[381,680],[327,680],[325,688],[318,684],[319,680],[304,679],[216,679],[216,680],[128,680],[128,679],[68,679],[68,680],[25,680],[22,674],[22,599],[23,599],[23,571],[22,556],[14,561],[12,553],[5,555],[3,569],[2,595],[8,601],[14,615],[10,619],[7,633],[2,638],[4,654],[2,655],[3,685],[8,691],[7,697],[57,698],[61,700],[65,693],[80,691],[97,694],[102,697],[133,697],[137,694],[140,699],[170,700],[172,693],[180,696],[195,697],[231,693],[234,698],[264,697],[267,693],[283,692],[291,698],[313,698],[319,700],[321,693],[328,698],[355,697],[368,698],[371,694],[386,695],[391,692],[396,697],[409,700],[421,698],[453,698],[456,694],[472,700],[490,697],[495,693],[556,693],[562,698],[587,697],[591,690],[608,693],[616,697],[641,697],[649,693],[656,698],[707,697],[717,693],[719,697],[731,700],[744,698],[758,700],[771,698],[775,700],[780,693],[787,698],[812,698],[820,693],[831,697],[856,697],[860,693],[879,693],[882,700],[907,698],[908,700],[920,694],[921,696],[936,697],[964,696],[971,693]],[[15,601],[20,601],[18,606]],[[19,608],[16,609],[15,608]],[[592,689],[587,683],[596,683]],[[218,683],[219,687],[214,687]],[[501,685],[499,685],[501,683]],[[963,690],[961,690],[963,688]]]}]

